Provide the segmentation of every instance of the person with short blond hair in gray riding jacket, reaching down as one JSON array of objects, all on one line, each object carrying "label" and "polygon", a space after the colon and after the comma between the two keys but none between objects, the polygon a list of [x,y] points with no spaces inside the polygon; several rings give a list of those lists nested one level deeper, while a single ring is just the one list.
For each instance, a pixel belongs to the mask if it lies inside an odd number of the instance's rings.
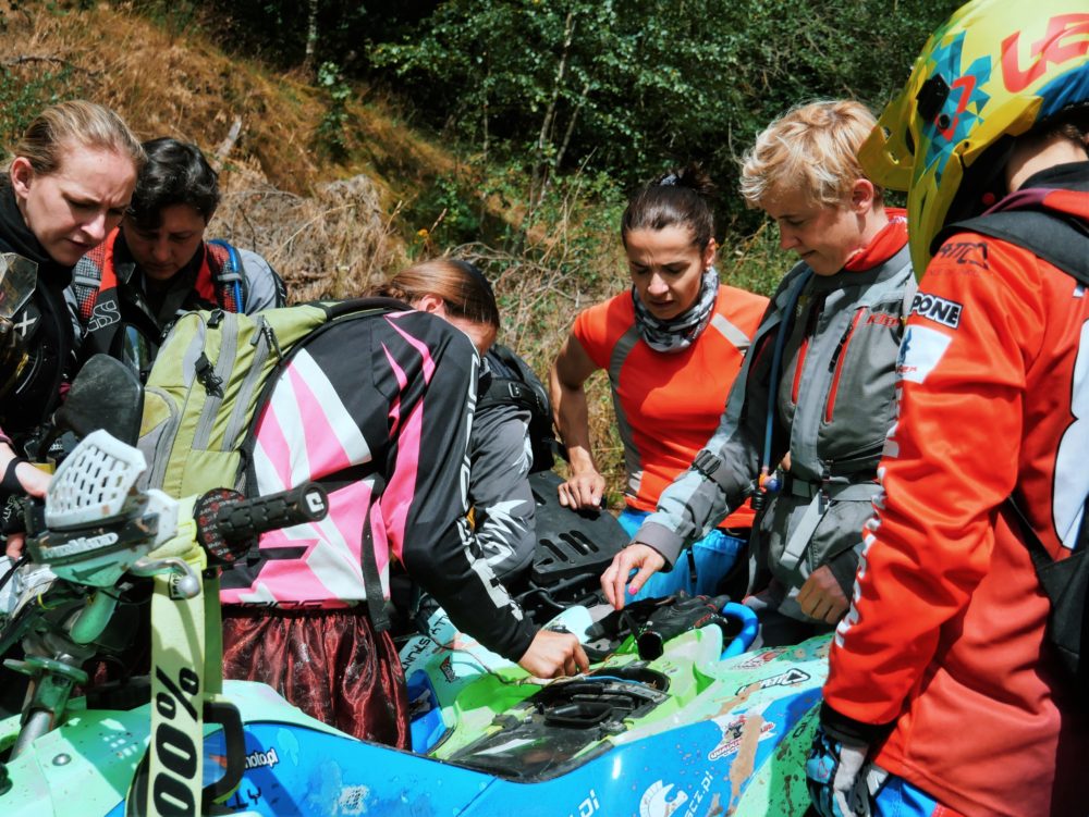
[{"label": "person with short blond hair in gray riding jacket, reaching down", "polygon": [[[615,606],[752,496],[766,507],[748,603],[761,610],[764,643],[827,631],[846,611],[915,292],[904,213],[885,209],[856,158],[873,124],[857,102],[812,102],[772,122],[746,154],[742,195],[799,261],[718,431],[602,577]],[[780,485],[773,473],[787,454]]]}]

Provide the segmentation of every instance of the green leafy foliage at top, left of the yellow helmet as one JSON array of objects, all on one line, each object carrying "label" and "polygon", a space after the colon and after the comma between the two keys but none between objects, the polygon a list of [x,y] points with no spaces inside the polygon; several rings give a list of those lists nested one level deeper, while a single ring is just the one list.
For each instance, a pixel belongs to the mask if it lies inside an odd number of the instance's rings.
[{"label": "green leafy foliage at top, left of the yellow helmet", "polygon": [[[632,184],[692,159],[729,190],[739,154],[792,104],[880,107],[957,4],[452,0],[370,59],[433,124],[525,162],[535,191],[584,163]],[[727,210],[746,220],[739,203]]]}]

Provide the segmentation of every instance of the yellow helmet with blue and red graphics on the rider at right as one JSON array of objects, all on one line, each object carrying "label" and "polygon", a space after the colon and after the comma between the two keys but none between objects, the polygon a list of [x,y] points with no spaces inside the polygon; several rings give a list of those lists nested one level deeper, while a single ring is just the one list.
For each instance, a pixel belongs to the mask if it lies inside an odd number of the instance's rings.
[{"label": "yellow helmet with blue and red graphics on the rider at right", "polygon": [[918,274],[947,223],[978,214],[1013,139],[1089,106],[1089,0],[974,0],[931,35],[859,150],[876,183],[907,190]]}]

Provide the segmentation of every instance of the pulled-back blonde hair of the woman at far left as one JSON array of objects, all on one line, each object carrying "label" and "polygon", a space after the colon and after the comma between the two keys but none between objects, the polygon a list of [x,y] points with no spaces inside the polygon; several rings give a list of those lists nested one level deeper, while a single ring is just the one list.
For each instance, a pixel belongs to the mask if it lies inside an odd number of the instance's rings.
[{"label": "pulled-back blonde hair of the woman at far left", "polygon": [[126,157],[137,173],[147,161],[139,139],[124,120],[109,108],[85,99],[59,102],[44,110],[12,152],[29,161],[35,173],[48,176],[60,170],[73,145]]}]

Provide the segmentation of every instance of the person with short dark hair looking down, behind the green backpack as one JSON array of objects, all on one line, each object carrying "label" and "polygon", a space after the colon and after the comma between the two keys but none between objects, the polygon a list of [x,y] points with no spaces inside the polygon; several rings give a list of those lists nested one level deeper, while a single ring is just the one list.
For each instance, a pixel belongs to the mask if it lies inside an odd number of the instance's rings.
[{"label": "person with short dark hair looking down, behind the green backpack", "polygon": [[225,242],[205,240],[220,194],[218,174],[200,149],[163,137],[144,143],[144,150],[148,161],[124,222],[79,261],[72,286],[83,356],[105,352],[127,360],[135,330],[149,349],[129,360],[140,368],[150,363],[179,312],[220,308],[254,314],[285,302],[283,282],[268,261]]}]

